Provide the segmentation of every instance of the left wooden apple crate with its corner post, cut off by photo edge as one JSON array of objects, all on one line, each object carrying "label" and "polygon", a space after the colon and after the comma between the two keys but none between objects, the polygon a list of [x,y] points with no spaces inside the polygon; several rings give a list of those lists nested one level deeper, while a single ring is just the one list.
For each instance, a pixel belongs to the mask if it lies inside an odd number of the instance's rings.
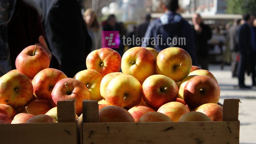
[{"label": "left wooden apple crate with its corner post, cut off by photo edge", "polygon": [[57,123],[0,124],[1,144],[75,144],[75,100],[57,103]]}]

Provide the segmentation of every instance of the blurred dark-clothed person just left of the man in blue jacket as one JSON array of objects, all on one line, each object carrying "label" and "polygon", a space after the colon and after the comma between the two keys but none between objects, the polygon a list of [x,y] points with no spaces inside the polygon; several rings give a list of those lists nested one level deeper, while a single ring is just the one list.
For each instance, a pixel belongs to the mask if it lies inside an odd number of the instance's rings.
[{"label": "blurred dark-clothed person just left of the man in blue jacket", "polygon": [[145,17],[145,22],[143,22],[142,24],[140,24],[138,26],[138,29],[136,30],[135,37],[139,37],[140,39],[142,39],[142,37],[144,37],[144,35],[147,31],[148,25],[150,23],[150,20],[151,20],[151,14],[147,14]]}]

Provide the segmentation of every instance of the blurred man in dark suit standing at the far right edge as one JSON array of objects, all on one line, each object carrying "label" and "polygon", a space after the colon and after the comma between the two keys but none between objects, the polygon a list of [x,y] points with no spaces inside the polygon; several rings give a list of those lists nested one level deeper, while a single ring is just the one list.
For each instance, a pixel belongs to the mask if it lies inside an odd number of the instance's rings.
[{"label": "blurred man in dark suit standing at the far right edge", "polygon": [[238,62],[238,83],[239,88],[251,88],[245,85],[245,71],[252,73],[252,85],[256,86],[255,65],[252,63],[252,57],[255,57],[252,46],[251,28],[253,25],[253,16],[250,14],[243,15],[244,24],[239,28],[239,62]]}]

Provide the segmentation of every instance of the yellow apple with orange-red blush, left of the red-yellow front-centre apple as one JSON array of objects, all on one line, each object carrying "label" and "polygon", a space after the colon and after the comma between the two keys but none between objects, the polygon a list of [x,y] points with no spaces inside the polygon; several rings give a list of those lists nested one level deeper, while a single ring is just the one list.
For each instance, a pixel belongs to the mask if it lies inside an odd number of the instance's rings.
[{"label": "yellow apple with orange-red blush, left of the red-yellow front-centre apple", "polygon": [[129,75],[120,74],[113,78],[105,90],[105,100],[110,105],[129,109],[141,101],[141,85]]}]

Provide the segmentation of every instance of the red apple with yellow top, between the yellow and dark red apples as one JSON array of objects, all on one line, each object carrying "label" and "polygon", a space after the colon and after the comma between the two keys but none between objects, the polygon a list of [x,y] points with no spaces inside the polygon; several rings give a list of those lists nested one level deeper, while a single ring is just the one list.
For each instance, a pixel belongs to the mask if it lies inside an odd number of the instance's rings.
[{"label": "red apple with yellow top, between the yellow and dark red apples", "polygon": [[174,80],[164,75],[151,75],[142,85],[142,98],[148,106],[154,109],[176,101],[177,94],[178,87]]}]

